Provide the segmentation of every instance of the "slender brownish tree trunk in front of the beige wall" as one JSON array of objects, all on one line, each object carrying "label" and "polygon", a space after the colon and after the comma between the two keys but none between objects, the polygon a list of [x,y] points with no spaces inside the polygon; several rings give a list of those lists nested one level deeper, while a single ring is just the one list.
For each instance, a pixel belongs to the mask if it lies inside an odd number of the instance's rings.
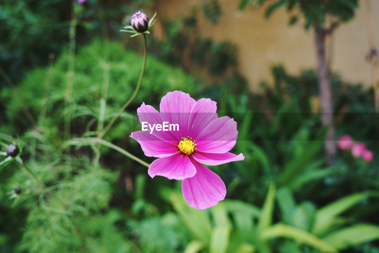
[{"label": "slender brownish tree trunk in front of the beige wall", "polygon": [[330,90],[330,82],[328,78],[328,69],[325,55],[325,38],[326,31],[323,28],[316,27],[315,40],[317,48],[317,63],[318,63],[318,84],[320,91],[320,104],[322,109],[321,121],[323,126],[328,127],[325,138],[325,150],[327,162],[330,165],[332,157],[335,154],[335,137],[333,127],[333,104],[332,93]]}]

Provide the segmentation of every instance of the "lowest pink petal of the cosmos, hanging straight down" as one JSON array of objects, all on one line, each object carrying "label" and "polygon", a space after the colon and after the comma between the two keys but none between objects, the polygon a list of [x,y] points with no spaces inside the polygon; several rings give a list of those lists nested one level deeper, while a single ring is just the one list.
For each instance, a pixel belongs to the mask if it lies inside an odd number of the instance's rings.
[{"label": "lowest pink petal of the cosmos, hanging straight down", "polygon": [[192,178],[182,181],[183,197],[187,203],[197,209],[206,209],[216,205],[226,195],[226,187],[221,178],[191,159],[196,167],[196,174]]}]

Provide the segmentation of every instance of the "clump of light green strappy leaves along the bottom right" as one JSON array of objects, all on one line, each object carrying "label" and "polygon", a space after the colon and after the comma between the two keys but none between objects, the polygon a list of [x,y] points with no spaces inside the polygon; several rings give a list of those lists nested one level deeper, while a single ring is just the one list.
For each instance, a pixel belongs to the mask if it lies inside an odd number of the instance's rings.
[{"label": "clump of light green strappy leaves along the bottom right", "polygon": [[[310,248],[313,248],[310,252],[337,252],[351,245],[379,239],[377,233],[379,226],[356,224],[344,227],[349,224],[348,222],[341,222],[338,226],[328,226],[327,232],[319,237],[312,233],[312,228],[299,226],[299,221],[309,221],[300,215],[299,209],[313,210],[305,211],[304,214],[325,212],[333,215],[334,211],[329,207],[317,211],[311,203],[298,206],[293,203],[293,206],[285,207],[283,205],[288,204],[288,198],[283,200],[281,197],[284,192],[288,195],[291,193],[284,188],[276,193],[275,189],[273,185],[270,185],[261,210],[251,204],[230,200],[224,200],[208,210],[196,210],[188,207],[180,193],[173,191],[165,192],[165,194],[169,194],[169,199],[178,212],[184,228],[191,234],[192,240],[185,252],[198,252],[200,249],[207,252],[278,252],[277,250],[283,248],[290,252],[308,252],[306,250]],[[367,197],[370,193],[365,192],[361,195]],[[379,196],[378,192],[371,195]],[[289,197],[292,198],[292,196]],[[353,196],[348,196],[346,199],[350,197]],[[293,214],[293,222],[272,224],[275,200],[281,205],[282,214],[286,212]],[[330,205],[340,206],[342,202],[336,201]],[[317,223],[319,218],[321,217],[313,217],[314,222]],[[336,219],[342,218],[336,217]],[[360,236],[354,237],[354,233]],[[344,240],[350,237],[351,240]],[[285,238],[285,240],[280,238]]]}]

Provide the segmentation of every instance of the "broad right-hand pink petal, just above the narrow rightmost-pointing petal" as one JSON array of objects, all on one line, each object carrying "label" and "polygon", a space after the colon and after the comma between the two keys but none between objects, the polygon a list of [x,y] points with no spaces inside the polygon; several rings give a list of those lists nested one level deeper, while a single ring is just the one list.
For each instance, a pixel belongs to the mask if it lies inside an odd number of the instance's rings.
[{"label": "broad right-hand pink petal, just above the narrow rightmost-pointing petal", "polygon": [[237,123],[224,116],[214,119],[195,139],[197,151],[226,153],[234,147],[237,139]]}]

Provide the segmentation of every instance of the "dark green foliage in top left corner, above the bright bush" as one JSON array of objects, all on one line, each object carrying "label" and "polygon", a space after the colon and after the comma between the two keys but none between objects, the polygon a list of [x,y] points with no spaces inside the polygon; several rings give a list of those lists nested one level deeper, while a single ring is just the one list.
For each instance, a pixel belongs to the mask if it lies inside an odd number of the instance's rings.
[{"label": "dark green foliage in top left corner, above the bright bush", "polygon": [[[22,80],[28,69],[45,66],[49,53],[59,55],[68,44],[72,3],[80,20],[77,44],[99,36],[101,19],[108,19],[108,31],[118,32],[119,20],[130,12],[130,6],[115,1],[87,1],[84,5],[64,0],[0,1],[0,65],[14,83]],[[1,77],[0,90],[5,86],[3,74]]]}]

